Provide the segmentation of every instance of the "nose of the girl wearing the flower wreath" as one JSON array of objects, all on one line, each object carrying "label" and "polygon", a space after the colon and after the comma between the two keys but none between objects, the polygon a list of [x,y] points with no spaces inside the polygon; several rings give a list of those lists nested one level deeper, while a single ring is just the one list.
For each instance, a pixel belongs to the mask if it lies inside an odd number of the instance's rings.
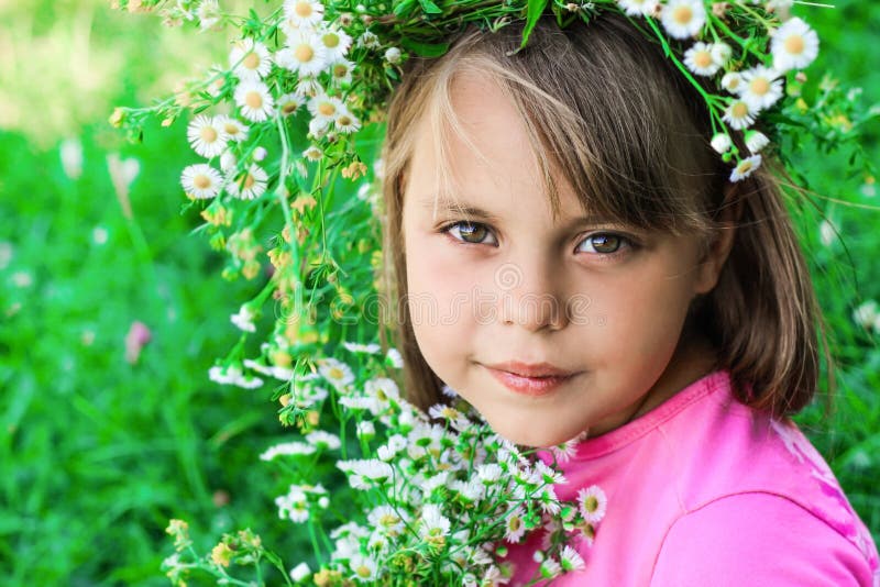
[{"label": "nose of the girl wearing the flower wreath", "polygon": [[568,323],[558,268],[547,262],[504,263],[495,270],[503,324],[537,332],[557,331]]}]

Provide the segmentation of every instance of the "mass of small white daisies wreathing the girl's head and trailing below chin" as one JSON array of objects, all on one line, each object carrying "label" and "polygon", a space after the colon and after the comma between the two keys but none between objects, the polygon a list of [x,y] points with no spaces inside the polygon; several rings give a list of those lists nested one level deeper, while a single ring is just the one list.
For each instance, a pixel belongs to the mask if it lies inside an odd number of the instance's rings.
[{"label": "mass of small white daisies wreathing the girl's head and trailing below chin", "polygon": [[[169,25],[241,32],[228,66],[212,67],[152,108],[118,108],[110,122],[138,140],[150,118],[167,126],[195,114],[187,139],[207,160],[183,170],[188,207],[200,208],[211,245],[229,253],[226,278],[264,281],[231,315],[242,340],[210,377],[249,388],[279,381],[273,397],[279,418],[302,438],[261,458],[296,463],[286,469],[294,483],[276,505],[283,519],[309,525],[320,566],[314,574],[302,564],[288,573],[250,530],[226,534],[200,557],[186,523],[175,520],[168,576],[178,583],[201,568],[229,583],[230,562],[258,567],[262,558],[288,583],[495,585],[512,573],[504,542],[519,542],[541,527],[539,578],[582,567],[571,544],[592,544],[606,498],[595,486],[576,502],[556,498],[552,486],[562,476],[554,467],[572,444],[537,461],[494,435],[449,388],[448,406],[421,412],[389,378],[402,366],[399,353],[374,342],[369,314],[380,243],[373,219],[382,177],[376,145],[388,99],[406,59],[443,55],[443,40],[468,23],[495,32],[525,21],[521,49],[544,14],[568,26],[618,12],[660,43],[694,85],[711,118],[706,139],[730,164],[729,180],[739,181],[768,148],[777,147],[784,163],[778,148],[783,140],[804,133],[832,149],[855,140],[854,129],[876,115],[859,111],[855,95],[829,78],[807,103],[802,69],[816,58],[818,38],[803,20],[789,18],[792,3],[284,0],[268,2],[265,15],[252,10],[238,16],[217,0],[116,0],[132,12],[156,11]],[[759,121],[765,132],[756,129]],[[277,236],[265,239],[266,231]],[[248,335],[264,325],[270,299],[276,306],[271,334],[257,357],[245,358]],[[345,342],[338,347],[338,341]],[[328,419],[340,424],[339,435],[319,429]],[[336,496],[306,475],[324,456],[346,475],[355,497],[369,494],[351,500],[358,506],[349,503],[343,517],[350,521],[329,534],[320,522]]]}]

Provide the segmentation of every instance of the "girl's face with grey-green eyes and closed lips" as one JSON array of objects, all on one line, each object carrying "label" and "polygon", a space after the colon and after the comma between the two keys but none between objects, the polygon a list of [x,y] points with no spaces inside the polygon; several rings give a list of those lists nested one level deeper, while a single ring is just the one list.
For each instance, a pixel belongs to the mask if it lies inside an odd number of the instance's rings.
[{"label": "girl's face with grey-green eyes and closed lips", "polygon": [[[431,369],[496,432],[530,446],[610,431],[704,375],[708,348],[681,334],[691,300],[717,279],[714,247],[701,262],[696,237],[585,218],[563,181],[554,221],[514,106],[474,77],[457,80],[452,100],[492,168],[455,137],[450,173],[473,211],[447,210],[436,202],[431,136],[416,131],[403,211],[407,303]],[[528,375],[521,364],[570,375]]]}]

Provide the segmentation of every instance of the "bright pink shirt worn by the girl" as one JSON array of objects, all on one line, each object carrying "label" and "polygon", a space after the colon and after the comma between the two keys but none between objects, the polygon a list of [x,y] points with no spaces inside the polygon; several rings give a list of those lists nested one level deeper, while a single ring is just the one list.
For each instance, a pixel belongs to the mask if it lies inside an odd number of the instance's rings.
[{"label": "bright pink shirt worn by the girl", "polygon": [[[583,571],[558,586],[880,586],[877,547],[828,465],[790,420],[737,402],[726,370],[576,445],[574,500],[607,497]],[[542,531],[510,549],[512,585],[532,576]],[[539,584],[541,585],[541,584]]]}]

